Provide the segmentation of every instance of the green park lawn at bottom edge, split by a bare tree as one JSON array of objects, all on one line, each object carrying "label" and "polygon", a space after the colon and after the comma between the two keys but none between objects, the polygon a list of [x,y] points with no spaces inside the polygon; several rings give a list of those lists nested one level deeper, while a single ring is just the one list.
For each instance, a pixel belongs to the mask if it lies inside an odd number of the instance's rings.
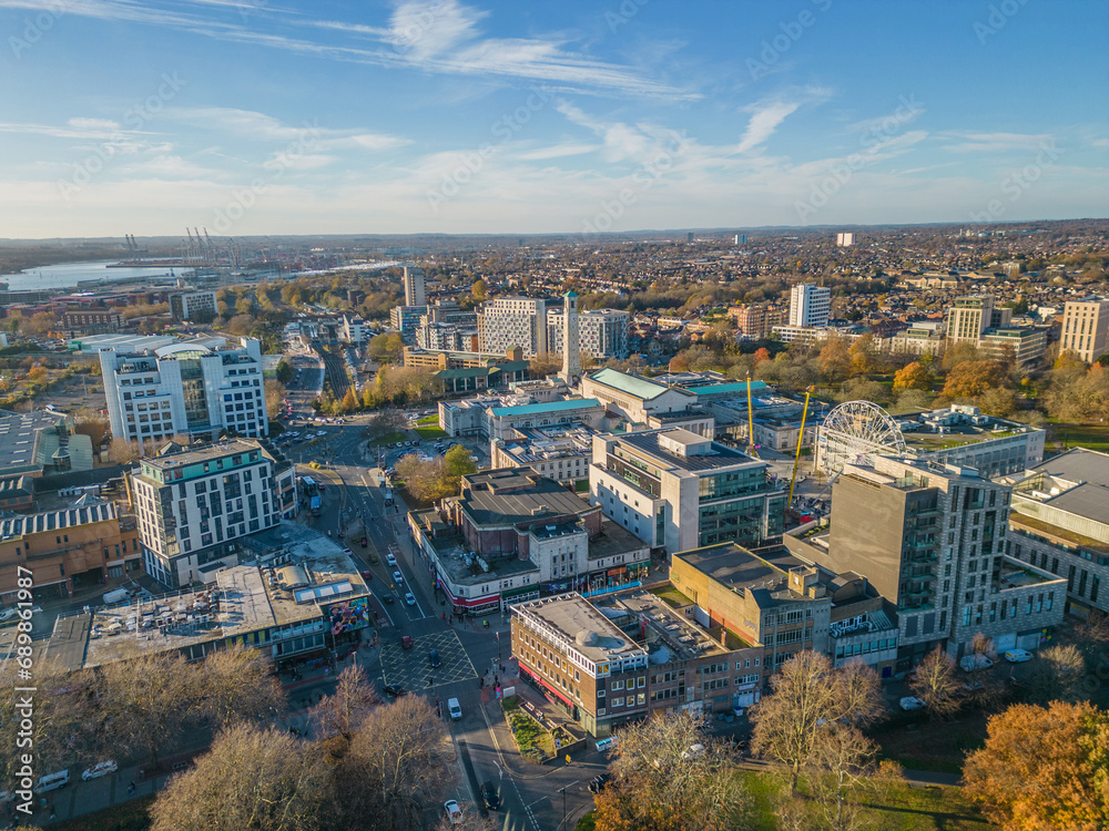
[{"label": "green park lawn at bottom edge, split by a bare tree", "polygon": [[[775,831],[774,806],[782,781],[771,773],[741,773],[751,797],[753,831]],[[861,794],[862,827],[874,831],[987,831],[995,828],[959,788],[882,783]]]}]

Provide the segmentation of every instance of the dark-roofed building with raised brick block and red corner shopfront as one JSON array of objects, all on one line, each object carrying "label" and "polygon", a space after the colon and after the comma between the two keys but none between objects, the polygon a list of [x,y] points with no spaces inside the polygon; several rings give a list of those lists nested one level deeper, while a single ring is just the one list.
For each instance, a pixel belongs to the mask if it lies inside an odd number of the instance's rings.
[{"label": "dark-roofed building with raised brick block and red corner shopfront", "polygon": [[650,565],[642,541],[527,468],[462,476],[458,496],[410,512],[408,527],[456,611],[637,583]]}]

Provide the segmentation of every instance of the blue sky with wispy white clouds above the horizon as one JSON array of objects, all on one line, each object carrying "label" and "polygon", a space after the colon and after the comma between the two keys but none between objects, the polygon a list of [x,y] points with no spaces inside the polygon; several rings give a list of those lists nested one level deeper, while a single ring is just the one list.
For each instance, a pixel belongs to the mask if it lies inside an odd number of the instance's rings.
[{"label": "blue sky with wispy white clouds above the horizon", "polygon": [[1105,216],[1100,0],[0,0],[0,236]]}]

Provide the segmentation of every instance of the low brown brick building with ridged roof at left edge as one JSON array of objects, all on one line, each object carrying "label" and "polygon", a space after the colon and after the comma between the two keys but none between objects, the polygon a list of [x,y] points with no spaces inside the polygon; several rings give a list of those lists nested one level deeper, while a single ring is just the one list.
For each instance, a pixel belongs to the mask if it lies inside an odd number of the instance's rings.
[{"label": "low brown brick building with ridged roof at left edge", "polygon": [[16,601],[20,568],[33,575],[34,598],[70,597],[74,588],[142,567],[139,534],[115,503],[81,497],[69,507],[0,519],[0,601]]}]

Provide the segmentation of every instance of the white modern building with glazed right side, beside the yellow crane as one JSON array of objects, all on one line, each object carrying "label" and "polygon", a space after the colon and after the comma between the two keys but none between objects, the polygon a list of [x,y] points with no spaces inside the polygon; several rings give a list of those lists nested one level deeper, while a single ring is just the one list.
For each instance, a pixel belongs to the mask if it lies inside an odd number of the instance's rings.
[{"label": "white modern building with glazed right side, beside the yellow crane", "polygon": [[784,524],[786,495],[767,470],[688,430],[596,435],[590,502],[652,548],[757,545]]}]

